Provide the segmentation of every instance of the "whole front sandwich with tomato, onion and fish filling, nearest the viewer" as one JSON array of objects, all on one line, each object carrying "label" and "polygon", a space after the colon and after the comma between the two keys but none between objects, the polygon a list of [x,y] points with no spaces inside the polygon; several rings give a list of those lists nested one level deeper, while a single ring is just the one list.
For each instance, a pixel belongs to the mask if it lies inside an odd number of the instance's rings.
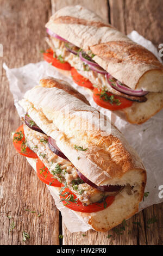
[{"label": "whole front sandwich with tomato, onion and fish filling, nearest the viewer", "polygon": [[146,186],[142,161],[82,94],[46,77],[19,103],[26,114],[14,147],[38,178],[53,186],[65,208],[97,231],[110,230],[139,210]]}]

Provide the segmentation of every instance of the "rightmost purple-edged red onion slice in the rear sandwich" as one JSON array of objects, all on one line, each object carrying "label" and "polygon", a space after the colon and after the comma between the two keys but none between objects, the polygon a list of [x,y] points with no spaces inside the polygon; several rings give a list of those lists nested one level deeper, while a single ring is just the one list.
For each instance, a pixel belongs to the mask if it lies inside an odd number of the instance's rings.
[{"label": "rightmost purple-edged red onion slice in the rear sandwich", "polygon": [[[148,94],[145,90],[132,90],[126,86],[124,86],[120,81],[117,81],[114,77],[112,77],[109,73],[106,75],[108,83],[110,86],[121,93],[126,93],[128,95],[134,96],[145,96]],[[112,80],[112,81],[111,81]]]}]

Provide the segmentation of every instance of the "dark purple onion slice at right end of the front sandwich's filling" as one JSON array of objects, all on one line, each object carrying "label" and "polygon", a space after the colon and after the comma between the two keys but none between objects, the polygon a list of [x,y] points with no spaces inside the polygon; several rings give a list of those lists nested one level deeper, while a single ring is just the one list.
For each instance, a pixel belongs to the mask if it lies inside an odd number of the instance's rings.
[{"label": "dark purple onion slice at right end of the front sandwich's filling", "polygon": [[97,186],[95,183],[93,183],[92,181],[90,181],[89,179],[87,179],[82,173],[79,172],[79,170],[77,170],[77,173],[80,177],[80,179],[82,179],[85,183],[87,183],[88,185],[90,185],[91,187],[95,187],[97,190],[100,191],[107,191],[107,192],[116,192],[116,191],[120,191],[124,186]]}]

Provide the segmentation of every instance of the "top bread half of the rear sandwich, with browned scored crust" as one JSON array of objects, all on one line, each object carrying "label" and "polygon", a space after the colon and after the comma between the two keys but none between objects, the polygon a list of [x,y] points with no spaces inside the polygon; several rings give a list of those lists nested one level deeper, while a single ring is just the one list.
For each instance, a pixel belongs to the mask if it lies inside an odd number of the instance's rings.
[{"label": "top bread half of the rear sandwich, with browned scored crust", "polygon": [[128,87],[163,92],[163,66],[154,54],[92,11],[80,5],[62,8],[46,27],[72,44],[91,50],[96,54],[93,60]]}]

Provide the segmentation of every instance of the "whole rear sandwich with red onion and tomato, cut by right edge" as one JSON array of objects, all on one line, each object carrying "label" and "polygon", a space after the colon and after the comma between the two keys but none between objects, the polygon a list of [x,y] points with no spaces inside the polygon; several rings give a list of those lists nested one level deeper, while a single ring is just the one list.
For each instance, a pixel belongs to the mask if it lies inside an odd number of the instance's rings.
[{"label": "whole rear sandwich with red onion and tomato, cut by right edge", "polygon": [[163,65],[80,5],[58,10],[46,24],[44,59],[72,76],[97,105],[132,124],[142,124],[163,107]]}]

